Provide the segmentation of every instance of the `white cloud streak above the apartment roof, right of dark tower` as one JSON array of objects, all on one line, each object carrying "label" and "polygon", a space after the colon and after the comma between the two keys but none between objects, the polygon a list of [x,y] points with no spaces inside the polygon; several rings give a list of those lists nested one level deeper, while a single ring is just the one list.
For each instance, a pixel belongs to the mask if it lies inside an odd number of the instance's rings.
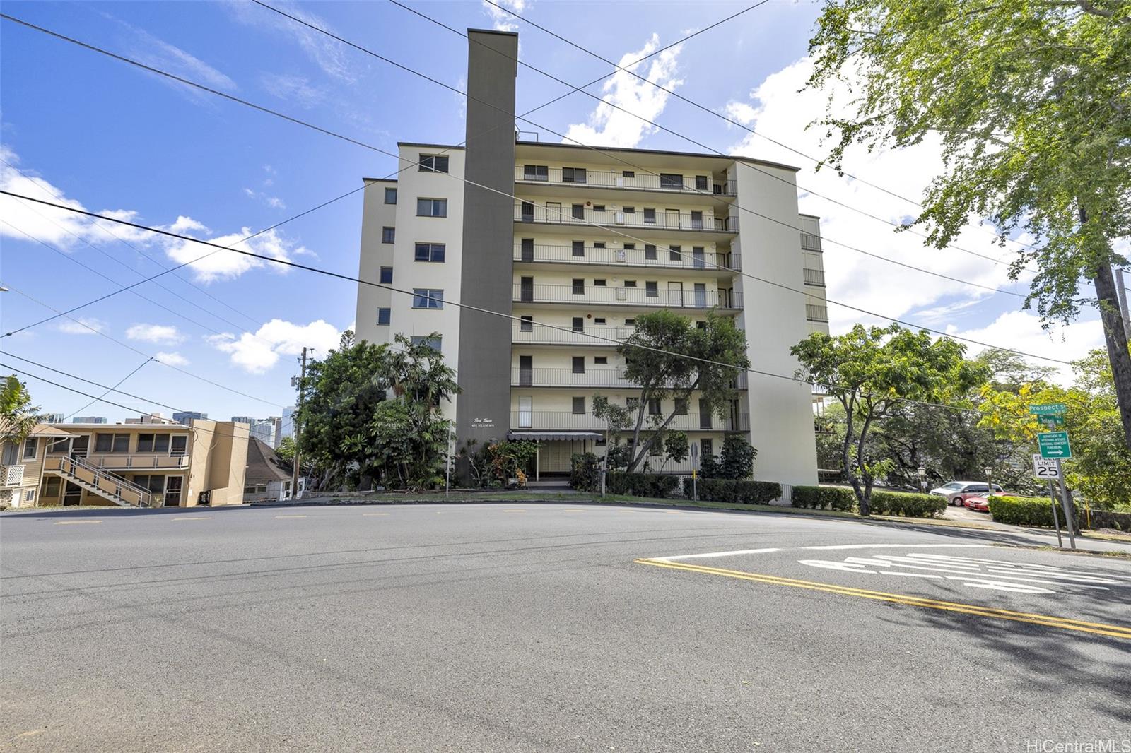
[{"label": "white cloud streak above the apartment roof, right of dark tower", "polygon": [[[680,51],[683,49],[682,44],[665,50],[642,63],[630,64],[655,52],[657,47],[659,47],[659,37],[653,34],[642,49],[624,53],[619,64],[621,68],[642,76],[653,84],[658,84],[666,89],[674,89],[683,84],[682,79],[675,77],[676,62],[679,61]],[[644,66],[647,66],[647,70],[641,70]],[[667,92],[641,81],[627,70],[619,70],[613,73],[605,81],[602,90],[603,102],[589,114],[587,122],[571,124],[566,130],[566,138],[562,139],[562,142],[580,142],[587,146],[636,147],[645,136],[656,131],[656,128],[648,126],[640,118],[629,113],[636,113],[636,115],[655,121],[664,112],[664,107],[667,106],[670,96]],[[623,110],[616,110],[612,105],[623,107]]]}]

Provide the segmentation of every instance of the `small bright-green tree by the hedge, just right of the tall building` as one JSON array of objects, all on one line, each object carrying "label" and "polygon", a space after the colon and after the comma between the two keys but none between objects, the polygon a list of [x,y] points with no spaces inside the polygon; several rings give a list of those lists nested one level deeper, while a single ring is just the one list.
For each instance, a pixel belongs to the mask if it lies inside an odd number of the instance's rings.
[{"label": "small bright-green tree by the hedge, just right of the tall building", "polygon": [[924,330],[898,324],[844,335],[813,332],[789,352],[801,369],[796,376],[823,387],[844,409],[840,469],[852,484],[862,514],[869,514],[872,484],[892,467],[869,443],[874,424],[907,400],[952,404],[985,381],[985,367],[964,358],[965,346],[932,341]]}]

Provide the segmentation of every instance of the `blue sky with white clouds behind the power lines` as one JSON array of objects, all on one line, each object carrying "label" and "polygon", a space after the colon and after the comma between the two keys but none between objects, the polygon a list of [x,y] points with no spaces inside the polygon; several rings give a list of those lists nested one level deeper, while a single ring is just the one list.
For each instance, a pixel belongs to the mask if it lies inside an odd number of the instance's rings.
[{"label": "blue sky with white clouds behind the power lines", "polygon": [[[527,24],[489,12],[480,2],[412,5],[460,29],[513,25],[520,34],[521,59],[568,81],[580,84],[610,72],[607,63]],[[546,0],[511,0],[511,5],[618,61],[633,60],[742,7]],[[391,3],[279,7],[452,86],[464,86],[466,42]],[[457,95],[250,2],[8,1],[5,11],[383,149],[395,150],[397,140],[464,139],[464,107]],[[824,95],[796,94],[804,83],[808,37],[817,14],[818,6],[811,2],[768,2],[657,57],[638,72],[806,154],[818,154],[818,135],[804,131],[804,124],[821,114]],[[519,112],[564,90],[561,84],[520,69]],[[802,166],[803,185],[873,214],[898,220],[910,211],[906,202],[884,199],[827,171],[814,174],[798,155],[645,84],[614,78],[589,90],[720,152]],[[31,176],[42,190],[89,210],[121,213],[143,224],[222,243],[355,189],[362,176],[397,168],[391,157],[10,21],[0,23],[0,107],[2,156],[8,163],[0,170],[6,185],[34,190],[36,184],[26,178]],[[627,115],[605,118],[598,103],[581,94],[538,111],[532,120],[590,145],[694,149]],[[523,129],[538,130],[529,124]],[[546,132],[541,138],[558,140]],[[849,164],[870,180],[914,197],[936,166],[938,155],[926,145],[913,154],[860,155]],[[802,206],[827,217],[823,232],[829,239],[964,279],[1025,291],[1024,285],[1007,284],[1002,266],[958,251],[926,252],[914,237],[897,237],[890,226],[812,196],[803,196]],[[113,227],[111,234],[87,220],[10,200],[0,204],[0,279],[11,288],[0,294],[3,331],[53,313],[26,296],[68,309],[159,271],[143,253],[170,266],[204,252],[124,227]],[[260,236],[251,248],[355,275],[360,227],[359,193]],[[959,245],[1009,259],[977,230],[964,235]],[[1099,343],[1094,322],[1050,337],[1034,317],[1017,311],[1019,298],[986,296],[835,244],[826,244],[826,268],[830,297],[930,327],[1062,358],[1078,357]],[[150,362],[121,389],[211,417],[267,416],[279,415],[282,406],[294,401],[290,376],[295,352],[302,345],[325,352],[353,321],[355,288],[349,283],[249,265],[234,254],[214,257],[179,274],[162,278],[167,289],[153,283],[137,288],[161,305],[121,293],[74,314],[85,326],[58,319],[3,338],[2,349],[105,384],[121,380],[147,356],[161,354],[159,360],[183,371]],[[835,329],[867,320],[836,308],[830,314]],[[5,363],[20,362],[6,356]],[[66,378],[59,381],[102,391]],[[69,414],[88,403],[34,379],[27,382],[45,410]],[[120,395],[111,399],[137,406],[138,412],[171,413]],[[129,415],[107,405],[81,413]]]}]

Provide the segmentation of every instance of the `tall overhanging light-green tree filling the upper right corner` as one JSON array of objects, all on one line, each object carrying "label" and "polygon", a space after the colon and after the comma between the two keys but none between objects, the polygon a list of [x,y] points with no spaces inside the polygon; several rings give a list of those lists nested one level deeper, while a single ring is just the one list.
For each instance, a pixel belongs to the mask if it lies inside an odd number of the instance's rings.
[{"label": "tall overhanging light-green tree filling the upper right corner", "polygon": [[[840,168],[853,145],[942,142],[913,224],[943,248],[972,217],[1026,231],[1010,276],[1026,308],[1068,322],[1096,305],[1131,447],[1131,354],[1114,251],[1131,236],[1131,2],[829,0],[810,41],[814,87],[852,88],[822,121]],[[1027,272],[1025,272],[1027,274]],[[1082,283],[1091,283],[1094,291]]]}]

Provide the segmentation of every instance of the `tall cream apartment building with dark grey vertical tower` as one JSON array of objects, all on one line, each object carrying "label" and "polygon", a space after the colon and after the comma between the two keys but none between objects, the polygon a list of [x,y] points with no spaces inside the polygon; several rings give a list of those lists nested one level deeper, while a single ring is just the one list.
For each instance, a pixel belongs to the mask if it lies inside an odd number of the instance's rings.
[{"label": "tall cream apartment building with dark grey vertical tower", "polygon": [[[828,331],[820,224],[798,213],[796,168],[519,138],[517,38],[469,33],[466,146],[403,142],[402,164],[417,167],[366,180],[360,277],[413,294],[360,285],[359,339],[437,332],[461,387],[447,406],[458,441],[535,440],[538,474],[604,453],[593,398],[639,399],[616,346],[647,312],[728,317],[754,369],[792,376],[789,347]],[[737,432],[759,478],[815,483],[810,386],[744,373],[734,387],[720,413],[694,393],[648,410],[675,409],[671,426],[700,455]]]}]

